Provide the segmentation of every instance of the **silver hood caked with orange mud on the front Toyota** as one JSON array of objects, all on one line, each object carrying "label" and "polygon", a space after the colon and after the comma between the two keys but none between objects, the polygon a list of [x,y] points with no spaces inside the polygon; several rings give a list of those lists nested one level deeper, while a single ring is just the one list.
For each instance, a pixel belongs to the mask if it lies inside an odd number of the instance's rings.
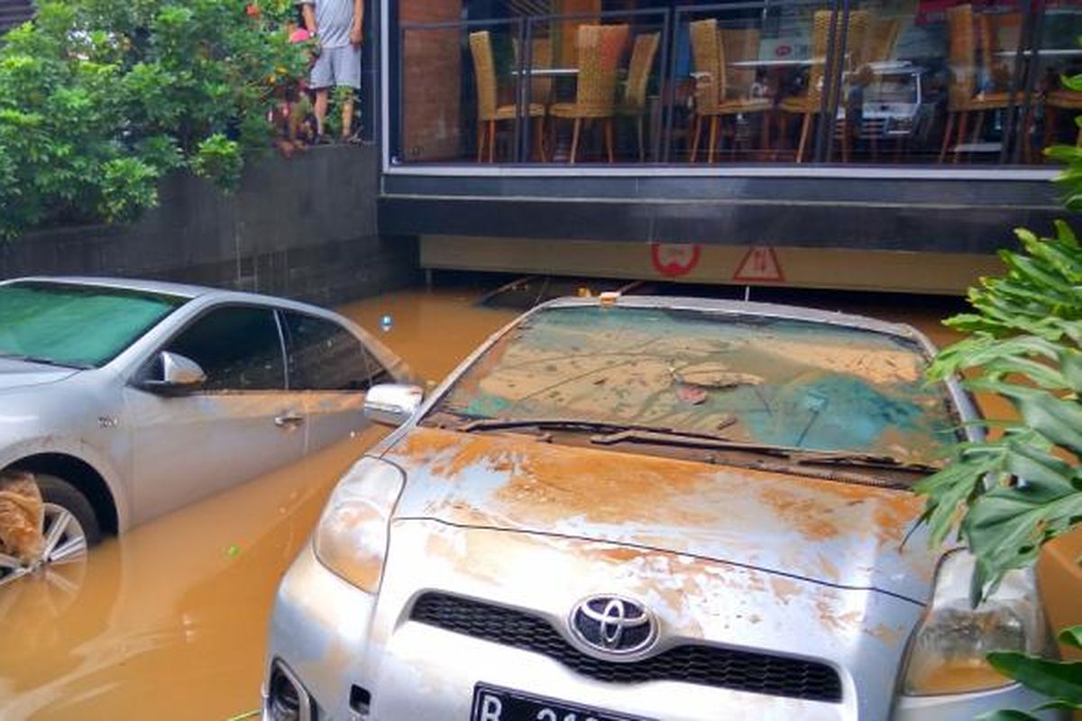
[{"label": "silver hood caked with orange mud on the front Toyota", "polygon": [[[397,519],[663,550],[926,602],[938,553],[905,491],[515,433],[414,428],[384,455],[407,473]],[[905,542],[905,543],[903,543]]]}]

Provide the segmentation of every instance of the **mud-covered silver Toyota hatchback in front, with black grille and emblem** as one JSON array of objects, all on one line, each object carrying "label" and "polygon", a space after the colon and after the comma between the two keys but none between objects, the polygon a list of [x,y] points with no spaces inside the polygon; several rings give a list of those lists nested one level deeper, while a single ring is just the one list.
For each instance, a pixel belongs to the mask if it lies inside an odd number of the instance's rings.
[{"label": "mud-covered silver Toyota hatchback in front, with black grille and emblem", "polygon": [[[975,411],[913,329],[701,299],[557,301],[333,491],[278,591],[272,721],[968,721],[1039,698],[1033,575],[978,609],[911,486]],[[1055,713],[1055,712],[1053,712]]]}]

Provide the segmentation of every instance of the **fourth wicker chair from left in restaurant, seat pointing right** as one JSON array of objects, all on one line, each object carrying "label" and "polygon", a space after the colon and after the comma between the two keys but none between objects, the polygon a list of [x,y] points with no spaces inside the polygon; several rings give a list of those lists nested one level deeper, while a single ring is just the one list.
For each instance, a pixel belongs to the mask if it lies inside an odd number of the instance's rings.
[{"label": "fourth wicker chair from left in restaurant, seat pointing right", "polygon": [[724,117],[769,110],[770,101],[765,97],[730,97],[735,93],[730,92],[734,88],[716,19],[696,21],[691,23],[690,32],[691,55],[695,58],[695,125],[688,160],[692,163],[696,161],[703,121],[710,118],[707,162],[712,163],[717,149],[718,121]]}]

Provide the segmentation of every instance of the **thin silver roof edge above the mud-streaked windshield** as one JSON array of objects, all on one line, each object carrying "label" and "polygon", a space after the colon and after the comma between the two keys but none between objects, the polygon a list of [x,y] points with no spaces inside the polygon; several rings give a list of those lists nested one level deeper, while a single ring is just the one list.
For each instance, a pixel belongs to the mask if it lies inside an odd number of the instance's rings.
[{"label": "thin silver roof edge above the mud-streaked windshield", "polygon": [[[605,302],[605,298],[601,296],[571,296],[549,301],[547,303],[537,306],[533,311],[543,310],[545,308],[597,306],[604,304]],[[802,320],[814,323],[826,323],[830,325],[841,325],[843,328],[872,331],[875,333],[886,333],[888,335],[897,335],[916,341],[926,346],[928,349],[935,348],[932,342],[912,325],[908,325],[906,323],[889,323],[887,321],[876,320],[866,316],[843,313],[833,310],[822,310],[819,308],[787,306],[774,303],[752,303],[750,301],[720,301],[715,298],[668,295],[620,295],[616,298],[615,305],[620,308],[702,310],[707,312]]]}]

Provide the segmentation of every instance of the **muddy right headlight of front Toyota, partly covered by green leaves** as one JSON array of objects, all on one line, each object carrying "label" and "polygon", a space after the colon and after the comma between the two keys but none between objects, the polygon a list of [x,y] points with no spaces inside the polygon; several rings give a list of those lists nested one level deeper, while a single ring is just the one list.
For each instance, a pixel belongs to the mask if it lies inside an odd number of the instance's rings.
[{"label": "muddy right headlight of front Toyota, partly covered by green leaves", "polygon": [[959,694],[1013,683],[985,656],[991,651],[1047,653],[1048,632],[1032,570],[1012,571],[994,593],[969,607],[976,559],[953,551],[939,565],[932,605],[909,649],[905,692]]}]

